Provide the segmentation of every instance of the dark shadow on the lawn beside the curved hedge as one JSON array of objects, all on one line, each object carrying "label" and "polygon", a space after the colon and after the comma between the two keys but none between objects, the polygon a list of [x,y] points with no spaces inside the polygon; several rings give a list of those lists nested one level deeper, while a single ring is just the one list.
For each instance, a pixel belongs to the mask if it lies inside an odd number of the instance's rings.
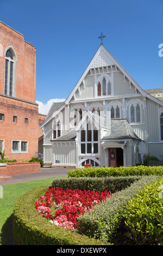
[{"label": "dark shadow on the lawn beside the curved hedge", "polygon": [[1,231],[2,231],[0,235],[1,245],[14,245],[14,240],[12,236],[12,214],[4,223]]}]

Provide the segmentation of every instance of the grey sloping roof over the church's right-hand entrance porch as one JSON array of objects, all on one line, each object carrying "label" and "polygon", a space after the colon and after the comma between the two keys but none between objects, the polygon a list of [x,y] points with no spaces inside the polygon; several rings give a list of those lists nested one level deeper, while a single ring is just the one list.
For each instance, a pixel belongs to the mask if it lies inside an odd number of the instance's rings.
[{"label": "grey sloping roof over the church's right-hand entrance porch", "polygon": [[111,120],[111,131],[106,132],[102,139],[136,139],[141,141],[126,119]]}]

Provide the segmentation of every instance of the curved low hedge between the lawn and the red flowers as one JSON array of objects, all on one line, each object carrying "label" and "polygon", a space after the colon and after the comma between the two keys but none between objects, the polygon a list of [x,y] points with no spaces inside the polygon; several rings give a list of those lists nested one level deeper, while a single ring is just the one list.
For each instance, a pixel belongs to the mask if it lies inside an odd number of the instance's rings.
[{"label": "curved low hedge between the lawn and the red flowers", "polygon": [[16,245],[110,245],[75,231],[57,227],[40,217],[34,203],[49,186],[35,188],[23,194],[14,205],[13,236]]}]

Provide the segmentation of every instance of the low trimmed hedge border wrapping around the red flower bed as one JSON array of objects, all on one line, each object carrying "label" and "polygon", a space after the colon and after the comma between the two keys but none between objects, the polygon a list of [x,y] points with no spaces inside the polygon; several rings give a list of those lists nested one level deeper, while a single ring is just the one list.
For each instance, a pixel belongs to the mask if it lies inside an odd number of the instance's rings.
[{"label": "low trimmed hedge border wrapping around the red flower bed", "polygon": [[[159,176],[55,179],[51,186],[35,188],[15,203],[14,242],[16,245],[111,245],[106,240],[111,241],[111,237],[116,233],[128,200],[135,197],[147,182],[158,179]],[[88,214],[80,216],[79,234],[51,224],[36,212],[34,207],[36,199],[52,186],[82,190],[95,190],[95,188],[99,190],[102,186],[103,190],[107,187],[110,192],[121,189],[122,191],[116,192],[114,196],[95,206]]]}]

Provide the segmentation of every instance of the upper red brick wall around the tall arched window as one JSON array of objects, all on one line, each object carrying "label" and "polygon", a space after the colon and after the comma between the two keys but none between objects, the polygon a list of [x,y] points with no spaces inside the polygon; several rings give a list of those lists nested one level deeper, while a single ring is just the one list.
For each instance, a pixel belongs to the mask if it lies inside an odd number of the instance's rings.
[{"label": "upper red brick wall around the tall arched window", "polygon": [[15,97],[36,102],[36,49],[24,36],[0,22],[0,93],[4,94],[5,50],[16,52]]}]

